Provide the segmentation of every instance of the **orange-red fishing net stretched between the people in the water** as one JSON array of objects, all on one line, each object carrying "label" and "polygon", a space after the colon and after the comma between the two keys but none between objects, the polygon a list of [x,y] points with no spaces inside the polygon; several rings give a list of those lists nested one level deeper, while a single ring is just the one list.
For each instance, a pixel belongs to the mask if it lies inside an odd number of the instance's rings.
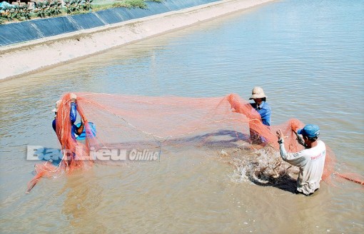
[{"label": "orange-red fishing net stretched between the people in the water", "polygon": [[[71,136],[71,94],[61,99],[56,115],[56,136],[61,144],[59,165],[36,165],[36,175],[29,182],[27,193],[41,177],[84,170],[93,163],[120,164],[133,160],[156,160],[163,149],[218,152],[235,165],[250,164],[249,173],[255,178],[280,178],[297,173],[297,168],[279,158],[275,131],[281,129],[288,138],[288,152],[300,151],[293,131],[304,124],[297,119],[265,126],[261,116],[248,101],[236,94],[216,98],[177,96],[123,96],[105,93],[76,93],[79,116],[84,119],[84,138]],[[251,132],[261,136],[259,145],[252,144]],[[213,151],[211,151],[213,149]],[[253,151],[254,159],[244,157],[243,151]],[[268,157],[262,157],[262,154]],[[235,156],[240,157],[235,157]],[[245,162],[244,162],[245,161]],[[330,183],[331,175],[363,183],[359,175],[335,173],[335,156],[327,146],[323,180]],[[259,168],[260,175],[257,175]],[[291,170],[291,171],[290,171]],[[254,177],[254,176],[253,176]],[[258,178],[257,178],[258,177]]]}]

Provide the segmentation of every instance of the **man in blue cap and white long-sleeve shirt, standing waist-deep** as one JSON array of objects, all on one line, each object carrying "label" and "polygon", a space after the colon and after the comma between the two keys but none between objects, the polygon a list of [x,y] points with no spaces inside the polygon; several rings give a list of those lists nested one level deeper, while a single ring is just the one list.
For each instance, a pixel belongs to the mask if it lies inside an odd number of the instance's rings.
[{"label": "man in blue cap and white long-sleeve shirt, standing waist-deep", "polygon": [[[311,195],[320,188],[320,180],[325,165],[326,146],[318,140],[320,128],[317,125],[308,124],[299,129],[297,133],[298,143],[305,149],[296,153],[287,153],[284,147],[284,136],[278,129],[277,137],[280,148],[280,156],[284,161],[300,168],[297,179],[297,191],[305,195]],[[302,135],[303,138],[300,138]]]}]

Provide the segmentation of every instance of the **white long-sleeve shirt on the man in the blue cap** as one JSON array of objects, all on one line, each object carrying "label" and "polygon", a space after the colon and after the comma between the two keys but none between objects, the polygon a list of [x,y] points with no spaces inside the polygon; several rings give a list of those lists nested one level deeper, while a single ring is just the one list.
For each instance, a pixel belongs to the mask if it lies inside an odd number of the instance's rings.
[{"label": "white long-sleeve shirt on the man in the blue cap", "polygon": [[279,144],[280,156],[284,161],[300,168],[297,190],[306,195],[320,188],[320,180],[325,165],[326,146],[323,141],[313,148],[305,148],[296,153],[287,153],[284,143]]}]

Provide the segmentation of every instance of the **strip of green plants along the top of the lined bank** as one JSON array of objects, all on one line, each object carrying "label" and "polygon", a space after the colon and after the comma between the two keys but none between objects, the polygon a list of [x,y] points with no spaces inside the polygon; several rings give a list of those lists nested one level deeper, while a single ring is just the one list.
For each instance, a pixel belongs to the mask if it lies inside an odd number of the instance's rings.
[{"label": "strip of green plants along the top of the lined bank", "polygon": [[36,2],[34,9],[29,9],[29,5],[2,6],[0,7],[0,24],[34,18],[64,16],[67,14],[85,14],[116,7],[147,9],[146,1],[161,2],[163,0],[64,0],[64,8],[56,0]]}]

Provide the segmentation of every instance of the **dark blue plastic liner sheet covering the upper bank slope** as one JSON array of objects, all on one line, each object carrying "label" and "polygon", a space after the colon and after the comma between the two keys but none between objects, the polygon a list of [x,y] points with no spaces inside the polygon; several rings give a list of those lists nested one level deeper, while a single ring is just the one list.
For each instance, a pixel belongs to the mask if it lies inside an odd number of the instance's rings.
[{"label": "dark blue plastic liner sheet covering the upper bank slope", "polygon": [[164,0],[161,3],[147,1],[147,9],[114,8],[87,14],[1,24],[0,46],[19,44],[25,41],[67,34],[83,29],[93,29],[99,26],[163,14],[168,11],[186,9],[191,6],[208,4],[214,1],[220,0]]}]

